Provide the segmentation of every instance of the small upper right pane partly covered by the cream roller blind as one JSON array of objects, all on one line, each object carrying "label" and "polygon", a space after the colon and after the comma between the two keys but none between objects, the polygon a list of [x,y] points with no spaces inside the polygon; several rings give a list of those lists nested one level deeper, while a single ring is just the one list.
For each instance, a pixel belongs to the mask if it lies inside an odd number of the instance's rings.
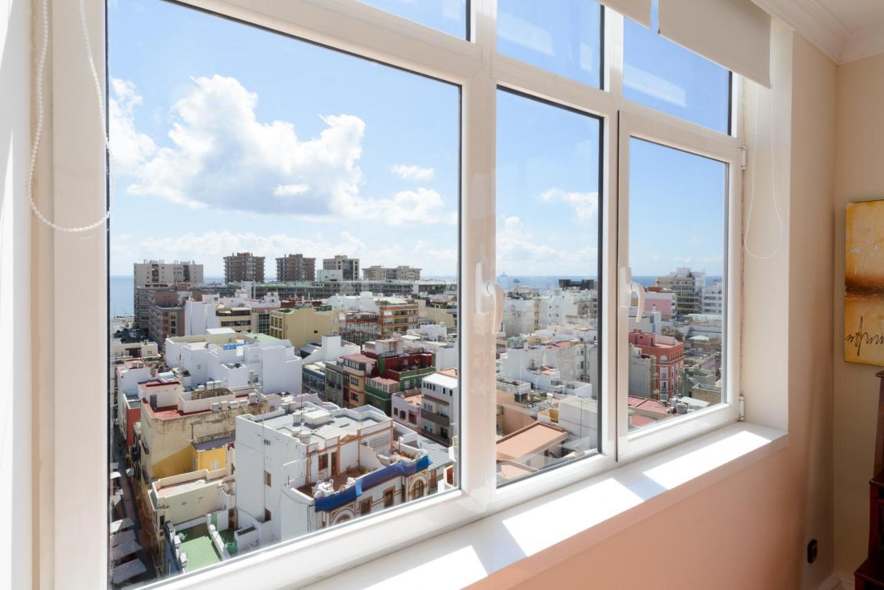
[{"label": "small upper right pane partly covered by the cream roller blind", "polygon": [[728,133],[730,73],[657,34],[656,0],[650,29],[623,19],[623,96]]}]

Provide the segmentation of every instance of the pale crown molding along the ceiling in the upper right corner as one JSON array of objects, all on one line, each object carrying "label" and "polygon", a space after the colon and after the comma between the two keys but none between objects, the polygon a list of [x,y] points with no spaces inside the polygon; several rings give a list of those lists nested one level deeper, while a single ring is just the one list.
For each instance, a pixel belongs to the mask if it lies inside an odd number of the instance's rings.
[{"label": "pale crown molding along the ceiling in the upper right corner", "polygon": [[884,22],[851,31],[819,0],[752,0],[816,45],[835,64],[884,52]]}]

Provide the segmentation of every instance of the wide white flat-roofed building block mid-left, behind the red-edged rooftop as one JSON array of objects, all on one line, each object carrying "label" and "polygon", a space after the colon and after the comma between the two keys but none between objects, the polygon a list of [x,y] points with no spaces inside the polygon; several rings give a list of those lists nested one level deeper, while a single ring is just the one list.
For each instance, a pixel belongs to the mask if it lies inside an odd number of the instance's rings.
[{"label": "wide white flat-roofed building block mid-left, behind the red-edged rooftop", "polygon": [[184,387],[220,381],[260,385],[264,394],[301,393],[301,356],[287,340],[211,328],[203,336],[167,338],[165,346],[166,364]]}]

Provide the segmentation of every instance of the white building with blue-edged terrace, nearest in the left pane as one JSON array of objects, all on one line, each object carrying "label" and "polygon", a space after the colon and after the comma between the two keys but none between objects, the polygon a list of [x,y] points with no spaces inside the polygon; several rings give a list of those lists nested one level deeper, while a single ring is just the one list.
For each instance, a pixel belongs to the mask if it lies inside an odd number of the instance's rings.
[{"label": "white building with blue-edged terrace, nearest in the left pane", "polygon": [[430,457],[408,439],[415,443],[415,433],[397,429],[369,406],[349,410],[296,401],[262,416],[238,417],[240,550],[293,539],[438,488],[436,471],[428,470]]}]

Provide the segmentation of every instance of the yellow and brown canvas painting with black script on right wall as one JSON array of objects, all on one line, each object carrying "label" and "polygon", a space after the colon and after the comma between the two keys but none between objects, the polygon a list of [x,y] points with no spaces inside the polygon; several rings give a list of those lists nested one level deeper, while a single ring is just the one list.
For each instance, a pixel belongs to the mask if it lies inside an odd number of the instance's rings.
[{"label": "yellow and brown canvas painting with black script on right wall", "polygon": [[844,360],[884,366],[884,201],[848,203]]}]

